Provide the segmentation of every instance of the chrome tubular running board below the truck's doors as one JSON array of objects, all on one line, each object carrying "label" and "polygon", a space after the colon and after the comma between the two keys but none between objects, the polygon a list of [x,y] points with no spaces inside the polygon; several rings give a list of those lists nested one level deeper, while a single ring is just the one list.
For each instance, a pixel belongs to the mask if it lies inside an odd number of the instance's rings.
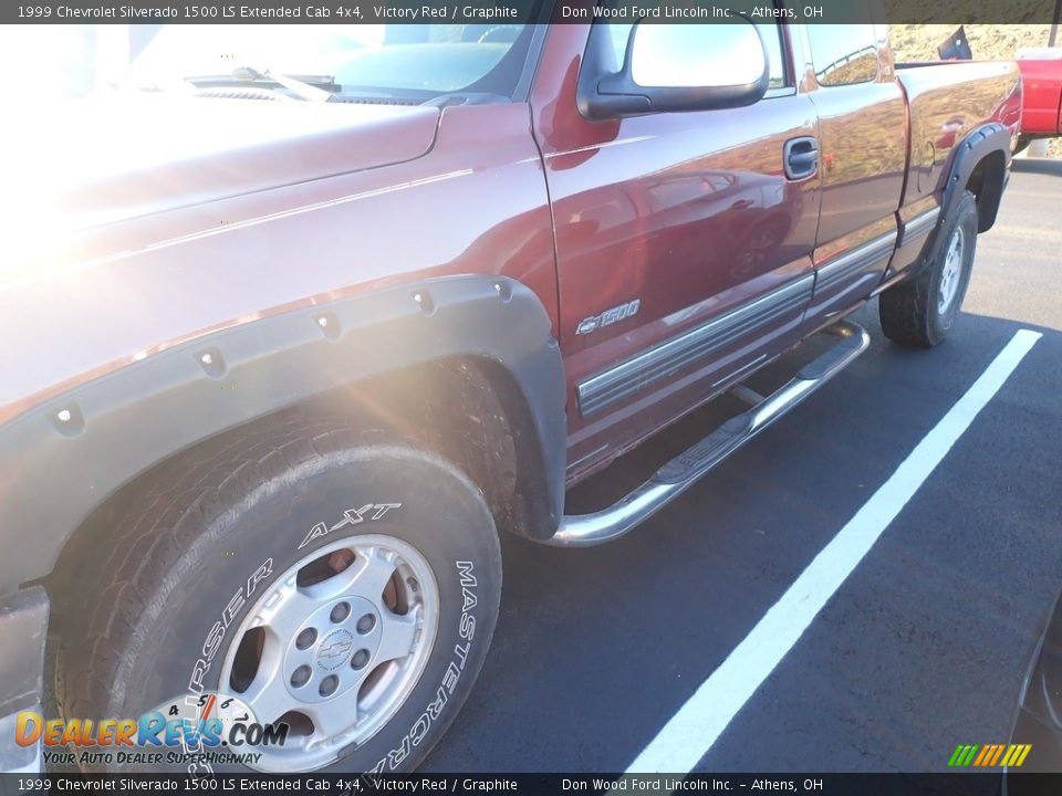
[{"label": "chrome tubular running board below the truck's doors", "polygon": [[[866,350],[871,337],[858,324],[841,321],[824,329],[839,339],[804,366],[778,391],[751,409],[730,418],[694,447],[671,459],[618,502],[593,514],[566,514],[552,538],[554,547],[591,547],[620,538],[693,486],[719,462],[740,449],[800,404]],[[742,399],[756,394],[743,390]]]}]

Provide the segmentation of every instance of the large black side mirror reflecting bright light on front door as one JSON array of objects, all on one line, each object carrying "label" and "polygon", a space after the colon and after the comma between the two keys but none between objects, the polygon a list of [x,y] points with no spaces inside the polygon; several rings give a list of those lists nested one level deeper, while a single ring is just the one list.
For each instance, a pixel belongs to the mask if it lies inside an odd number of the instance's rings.
[{"label": "large black side mirror reflecting bright light on front door", "polygon": [[586,118],[741,107],[767,92],[767,51],[743,17],[718,24],[637,22],[618,72],[608,28],[591,29],[579,74],[579,109]]}]

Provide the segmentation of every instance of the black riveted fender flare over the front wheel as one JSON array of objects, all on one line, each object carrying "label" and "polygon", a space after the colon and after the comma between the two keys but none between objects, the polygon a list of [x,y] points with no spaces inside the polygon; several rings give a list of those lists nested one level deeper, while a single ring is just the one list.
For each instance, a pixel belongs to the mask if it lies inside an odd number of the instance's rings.
[{"label": "black riveted fender flare over the front wheel", "polygon": [[344,385],[461,356],[500,365],[522,392],[533,433],[520,434],[518,454],[538,486],[524,533],[549,537],[563,515],[566,440],[549,314],[517,281],[445,276],[196,338],[0,427],[0,595],[51,572],[94,509],[181,450]]}]

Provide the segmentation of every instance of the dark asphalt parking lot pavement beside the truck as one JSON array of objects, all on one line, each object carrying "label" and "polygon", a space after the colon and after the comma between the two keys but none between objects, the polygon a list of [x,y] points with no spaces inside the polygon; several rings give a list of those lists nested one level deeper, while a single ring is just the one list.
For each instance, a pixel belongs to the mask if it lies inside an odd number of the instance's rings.
[{"label": "dark asphalt parking lot pavement beside the truck", "polygon": [[[622,772],[1019,329],[1042,333],[694,766],[944,771],[1010,737],[1062,588],[1062,161],[1016,161],[949,339],[871,348],[627,537],[503,542],[501,617],[436,772]],[[788,363],[779,363],[781,371]],[[772,374],[762,376],[769,379]],[[600,507],[718,422],[709,406],[582,484]]]}]

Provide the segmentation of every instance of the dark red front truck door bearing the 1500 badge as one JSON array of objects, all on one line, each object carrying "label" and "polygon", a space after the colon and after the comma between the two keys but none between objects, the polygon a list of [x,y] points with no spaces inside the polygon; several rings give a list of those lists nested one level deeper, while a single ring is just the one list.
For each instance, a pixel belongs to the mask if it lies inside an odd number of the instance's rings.
[{"label": "dark red front truck door bearing the 1500 badge", "polygon": [[[632,25],[611,28],[618,70]],[[555,230],[570,476],[795,339],[820,200],[814,106],[777,23],[761,25],[771,88],[754,105],[604,122],[576,107],[587,34],[553,27],[531,96]],[[801,170],[787,176],[794,144]]]}]

